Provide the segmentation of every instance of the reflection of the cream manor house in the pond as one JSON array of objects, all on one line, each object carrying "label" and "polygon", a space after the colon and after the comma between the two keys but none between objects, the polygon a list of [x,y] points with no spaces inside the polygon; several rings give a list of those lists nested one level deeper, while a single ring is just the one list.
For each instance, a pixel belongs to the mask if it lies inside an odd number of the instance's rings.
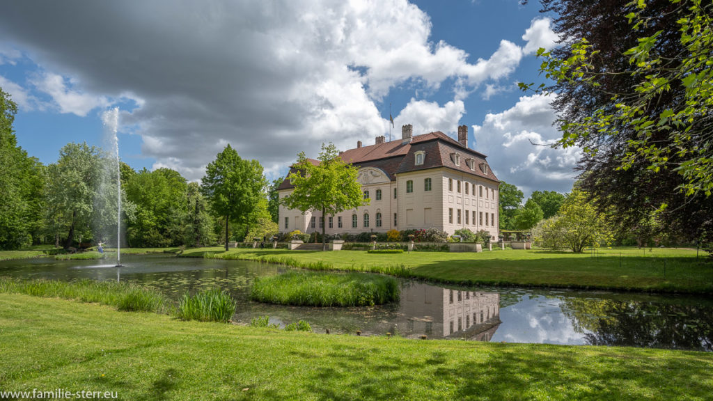
[{"label": "reflection of the cream manor house in the pond", "polygon": [[412,283],[401,293],[399,320],[405,320],[406,331],[414,337],[489,341],[501,323],[500,294]]}]

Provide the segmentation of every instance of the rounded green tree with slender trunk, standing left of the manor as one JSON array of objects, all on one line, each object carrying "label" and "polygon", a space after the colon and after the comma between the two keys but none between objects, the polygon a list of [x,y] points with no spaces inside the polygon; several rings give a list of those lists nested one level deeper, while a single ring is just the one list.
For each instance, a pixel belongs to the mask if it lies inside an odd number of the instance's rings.
[{"label": "rounded green tree with slender trunk, standing left of the manor", "polygon": [[246,224],[260,198],[264,196],[265,177],[256,160],[244,160],[228,146],[205,168],[201,193],[210,210],[225,218],[225,250],[228,250],[230,221]]}]

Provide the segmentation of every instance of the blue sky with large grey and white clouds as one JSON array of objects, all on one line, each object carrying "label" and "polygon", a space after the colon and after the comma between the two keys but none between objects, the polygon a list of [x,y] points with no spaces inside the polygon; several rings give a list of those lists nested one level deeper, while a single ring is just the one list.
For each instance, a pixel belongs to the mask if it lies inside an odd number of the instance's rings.
[{"label": "blue sky with large grey and white clouds", "polygon": [[576,150],[557,138],[539,47],[557,36],[537,1],[11,1],[0,13],[0,87],[19,105],[19,144],[52,163],[66,143],[101,146],[120,108],[135,169],[198,180],[227,143],[268,178],[322,142],[470,127],[498,178],[569,191]]}]

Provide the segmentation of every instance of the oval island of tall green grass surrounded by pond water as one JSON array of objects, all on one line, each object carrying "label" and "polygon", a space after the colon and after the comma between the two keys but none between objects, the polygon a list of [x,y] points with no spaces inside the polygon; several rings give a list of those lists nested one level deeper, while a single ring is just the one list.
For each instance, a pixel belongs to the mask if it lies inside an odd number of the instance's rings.
[{"label": "oval island of tall green grass surrounded by pond water", "polygon": [[289,272],[255,278],[250,298],[279,305],[373,306],[399,300],[399,284],[384,275]]}]

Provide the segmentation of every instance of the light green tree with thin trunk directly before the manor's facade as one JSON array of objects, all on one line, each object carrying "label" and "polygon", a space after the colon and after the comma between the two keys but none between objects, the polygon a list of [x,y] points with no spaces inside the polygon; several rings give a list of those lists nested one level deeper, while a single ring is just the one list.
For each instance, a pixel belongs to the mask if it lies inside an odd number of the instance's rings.
[{"label": "light green tree with thin trunk directly before the manor's facade", "polygon": [[[294,186],[294,191],[282,198],[282,203],[290,209],[319,210],[322,218],[335,215],[347,209],[368,205],[363,199],[361,186],[356,181],[357,169],[339,157],[334,144],[325,146],[319,152],[319,165],[315,166],[300,152],[294,173],[287,178]],[[327,249],[326,225],[322,224],[322,249]]]}]

